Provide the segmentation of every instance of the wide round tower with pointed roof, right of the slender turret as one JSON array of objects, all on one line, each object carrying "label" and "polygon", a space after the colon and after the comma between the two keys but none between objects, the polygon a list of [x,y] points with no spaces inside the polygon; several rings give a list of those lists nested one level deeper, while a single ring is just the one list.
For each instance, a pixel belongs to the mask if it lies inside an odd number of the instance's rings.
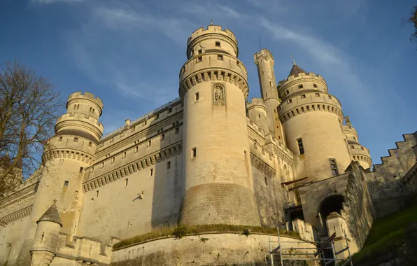
[{"label": "wide round tower with pointed roof, right of the slender turret", "polygon": [[351,162],[339,100],[328,93],[322,76],[294,64],[279,82],[278,106],[287,145],[295,153],[297,173],[319,181],[345,171]]}]

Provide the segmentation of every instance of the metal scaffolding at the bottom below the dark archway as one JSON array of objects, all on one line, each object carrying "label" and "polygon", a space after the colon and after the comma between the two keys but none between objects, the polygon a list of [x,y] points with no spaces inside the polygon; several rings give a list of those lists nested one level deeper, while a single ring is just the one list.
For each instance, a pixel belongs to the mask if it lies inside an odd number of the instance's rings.
[{"label": "metal scaffolding at the bottom below the dark archway", "polygon": [[[276,228],[278,231],[278,241],[272,241],[271,235],[269,235],[269,255],[270,255],[270,264],[274,266],[274,254],[279,254],[280,264],[283,266],[284,260],[313,260],[319,261],[320,265],[339,265],[338,263],[344,262],[341,266],[347,266],[350,263],[353,266],[352,258],[351,258],[351,251],[349,250],[349,243],[348,237],[346,236],[346,231],[344,230],[344,237],[341,240],[346,241],[346,247],[341,248],[341,250],[336,251],[334,246],[334,238],[336,237],[336,233],[333,233],[326,241],[314,241],[313,243],[317,244],[316,248],[308,248],[308,247],[290,247],[290,248],[283,248],[281,244],[299,244],[299,241],[281,241],[281,235],[279,234],[279,228]],[[274,244],[275,243],[275,244]],[[278,243],[278,246],[276,246]],[[272,249],[273,246],[276,248]],[[331,250],[333,254],[333,258],[325,258],[325,250]],[[285,251],[292,251],[292,250],[302,250],[305,253],[288,253]],[[310,253],[311,251],[316,250],[314,253]],[[348,251],[348,258],[337,258],[337,255]],[[303,256],[303,257],[301,257]],[[317,258],[318,257],[318,258]]]}]

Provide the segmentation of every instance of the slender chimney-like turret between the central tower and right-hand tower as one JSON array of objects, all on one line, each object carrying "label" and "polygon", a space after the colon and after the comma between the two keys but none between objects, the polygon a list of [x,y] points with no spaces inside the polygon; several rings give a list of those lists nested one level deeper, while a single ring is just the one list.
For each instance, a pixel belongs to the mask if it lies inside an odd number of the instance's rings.
[{"label": "slender chimney-like turret between the central tower and right-hand tower", "polygon": [[262,49],[253,55],[253,62],[257,66],[261,95],[267,107],[268,128],[264,130],[265,132],[272,132],[278,141],[285,143],[283,128],[278,120],[278,111],[276,110],[280,102],[278,101],[278,90],[276,88],[274,57],[268,49]]}]

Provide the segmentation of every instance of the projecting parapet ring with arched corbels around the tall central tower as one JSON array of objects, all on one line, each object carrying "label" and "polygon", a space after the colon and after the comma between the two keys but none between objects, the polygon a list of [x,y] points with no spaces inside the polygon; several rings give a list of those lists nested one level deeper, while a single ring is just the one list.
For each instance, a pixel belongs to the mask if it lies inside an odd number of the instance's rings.
[{"label": "projecting parapet ring with arched corbels around the tall central tower", "polygon": [[180,71],[180,97],[191,87],[204,82],[227,82],[239,87],[245,99],[248,97],[248,73],[236,57],[206,53],[189,59]]}]

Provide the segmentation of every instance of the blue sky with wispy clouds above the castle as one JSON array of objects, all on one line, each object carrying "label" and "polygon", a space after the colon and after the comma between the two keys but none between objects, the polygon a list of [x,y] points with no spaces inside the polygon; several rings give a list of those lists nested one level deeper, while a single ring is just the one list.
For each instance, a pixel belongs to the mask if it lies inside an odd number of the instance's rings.
[{"label": "blue sky with wispy clouds above the castle", "polygon": [[[347,4],[341,4],[347,3]],[[234,31],[260,97],[253,54],[268,48],[276,79],[294,55],[320,73],[374,163],[417,130],[417,43],[404,22],[415,1],[0,0],[0,61],[50,78],[62,98],[87,91],[104,102],[105,132],[178,97],[185,45],[195,29]],[[64,111],[63,111],[64,112]]]}]

